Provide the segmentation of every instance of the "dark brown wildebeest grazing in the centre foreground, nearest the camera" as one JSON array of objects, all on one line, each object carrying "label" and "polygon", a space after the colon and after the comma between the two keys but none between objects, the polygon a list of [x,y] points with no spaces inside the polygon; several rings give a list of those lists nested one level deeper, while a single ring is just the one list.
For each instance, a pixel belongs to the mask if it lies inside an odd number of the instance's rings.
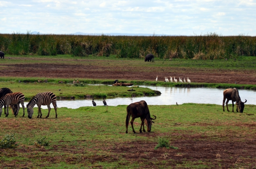
[{"label": "dark brown wildebeest grazing in the centre foreground, nearest the camera", "polygon": [[127,106],[126,110],[127,110],[126,121],[125,121],[126,133],[128,133],[128,125],[129,125],[131,115],[132,115],[131,125],[132,125],[133,133],[136,133],[133,128],[133,121],[135,120],[135,118],[138,118],[138,117],[140,117],[140,120],[141,120],[140,133],[142,132],[141,131],[142,126],[143,126],[143,131],[146,132],[146,130],[144,129],[144,120],[145,119],[147,121],[148,132],[151,131],[151,125],[153,122],[152,120],[155,120],[156,116],[153,115],[153,116],[155,116],[155,119],[150,117],[148,104],[146,103],[146,101],[141,100],[139,102],[132,103],[129,106]]}]

